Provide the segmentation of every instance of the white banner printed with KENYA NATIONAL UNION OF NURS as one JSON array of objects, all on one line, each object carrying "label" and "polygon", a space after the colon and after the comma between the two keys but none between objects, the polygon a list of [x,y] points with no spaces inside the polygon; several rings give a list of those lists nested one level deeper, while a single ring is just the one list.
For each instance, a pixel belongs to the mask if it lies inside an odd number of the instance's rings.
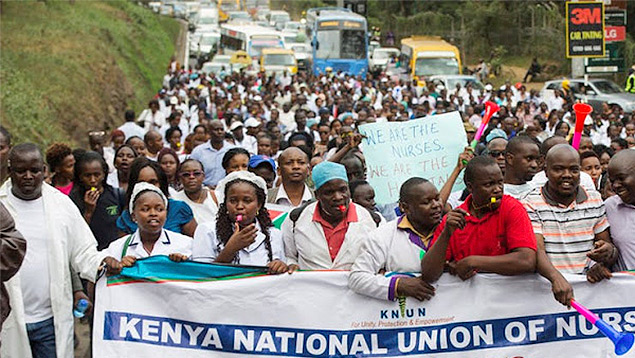
[{"label": "white banner printed with KENYA NATIONAL UNION OF NURS", "polygon": [[[635,332],[635,277],[576,299]],[[93,356],[100,357],[613,357],[612,342],[534,276],[444,274],[436,296],[405,307],[348,289],[347,272],[296,272],[213,282],[101,279]],[[635,349],[623,357],[635,357]]]}]

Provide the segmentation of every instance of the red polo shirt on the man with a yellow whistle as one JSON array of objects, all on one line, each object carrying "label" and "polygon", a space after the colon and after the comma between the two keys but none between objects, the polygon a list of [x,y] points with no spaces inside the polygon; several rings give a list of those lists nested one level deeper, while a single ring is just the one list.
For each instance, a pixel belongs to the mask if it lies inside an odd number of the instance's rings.
[{"label": "red polo shirt on the man with a yellow whistle", "polygon": [[[472,195],[459,208],[468,211]],[[434,233],[434,242],[439,238],[447,216]],[[434,245],[434,244],[433,244]],[[459,261],[467,256],[499,256],[519,247],[536,251],[536,237],[523,205],[509,195],[504,195],[496,211],[482,218],[474,215],[465,218],[465,228],[456,229],[450,237],[446,260]]]}]

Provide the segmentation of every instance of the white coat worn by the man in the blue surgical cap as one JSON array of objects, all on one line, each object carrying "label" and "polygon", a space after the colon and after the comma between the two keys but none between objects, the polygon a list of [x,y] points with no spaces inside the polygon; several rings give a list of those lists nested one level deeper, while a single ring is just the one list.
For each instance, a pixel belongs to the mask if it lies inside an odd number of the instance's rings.
[{"label": "white coat worn by the man in the blue surgical cap", "polygon": [[290,216],[282,224],[287,265],[295,264],[302,270],[350,270],[362,243],[376,229],[375,221],[363,206],[351,202],[357,211],[357,222],[349,224],[342,247],[331,260],[322,225],[313,221],[317,203],[304,208],[295,225]]}]

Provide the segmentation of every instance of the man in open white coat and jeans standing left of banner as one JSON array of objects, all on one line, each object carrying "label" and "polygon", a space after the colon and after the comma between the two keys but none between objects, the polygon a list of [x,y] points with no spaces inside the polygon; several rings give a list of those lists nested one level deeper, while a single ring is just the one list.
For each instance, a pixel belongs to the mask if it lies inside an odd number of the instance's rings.
[{"label": "man in open white coat and jeans standing left of banner", "polygon": [[28,243],[17,274],[7,282],[13,310],[2,327],[2,357],[72,357],[70,266],[94,281],[103,254],[73,202],[43,183],[44,161],[34,144],[9,153],[0,202]]}]

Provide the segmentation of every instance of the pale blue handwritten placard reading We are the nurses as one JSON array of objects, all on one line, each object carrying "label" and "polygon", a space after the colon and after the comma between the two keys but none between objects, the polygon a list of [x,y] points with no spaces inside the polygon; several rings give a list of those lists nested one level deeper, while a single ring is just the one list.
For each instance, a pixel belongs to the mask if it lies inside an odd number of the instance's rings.
[{"label": "pale blue handwritten placard reading We are the nurses", "polygon": [[[401,184],[414,176],[430,180],[440,190],[467,145],[459,112],[364,124],[359,131],[366,136],[366,174],[379,204],[397,202]],[[453,191],[463,188],[461,176]]]}]

